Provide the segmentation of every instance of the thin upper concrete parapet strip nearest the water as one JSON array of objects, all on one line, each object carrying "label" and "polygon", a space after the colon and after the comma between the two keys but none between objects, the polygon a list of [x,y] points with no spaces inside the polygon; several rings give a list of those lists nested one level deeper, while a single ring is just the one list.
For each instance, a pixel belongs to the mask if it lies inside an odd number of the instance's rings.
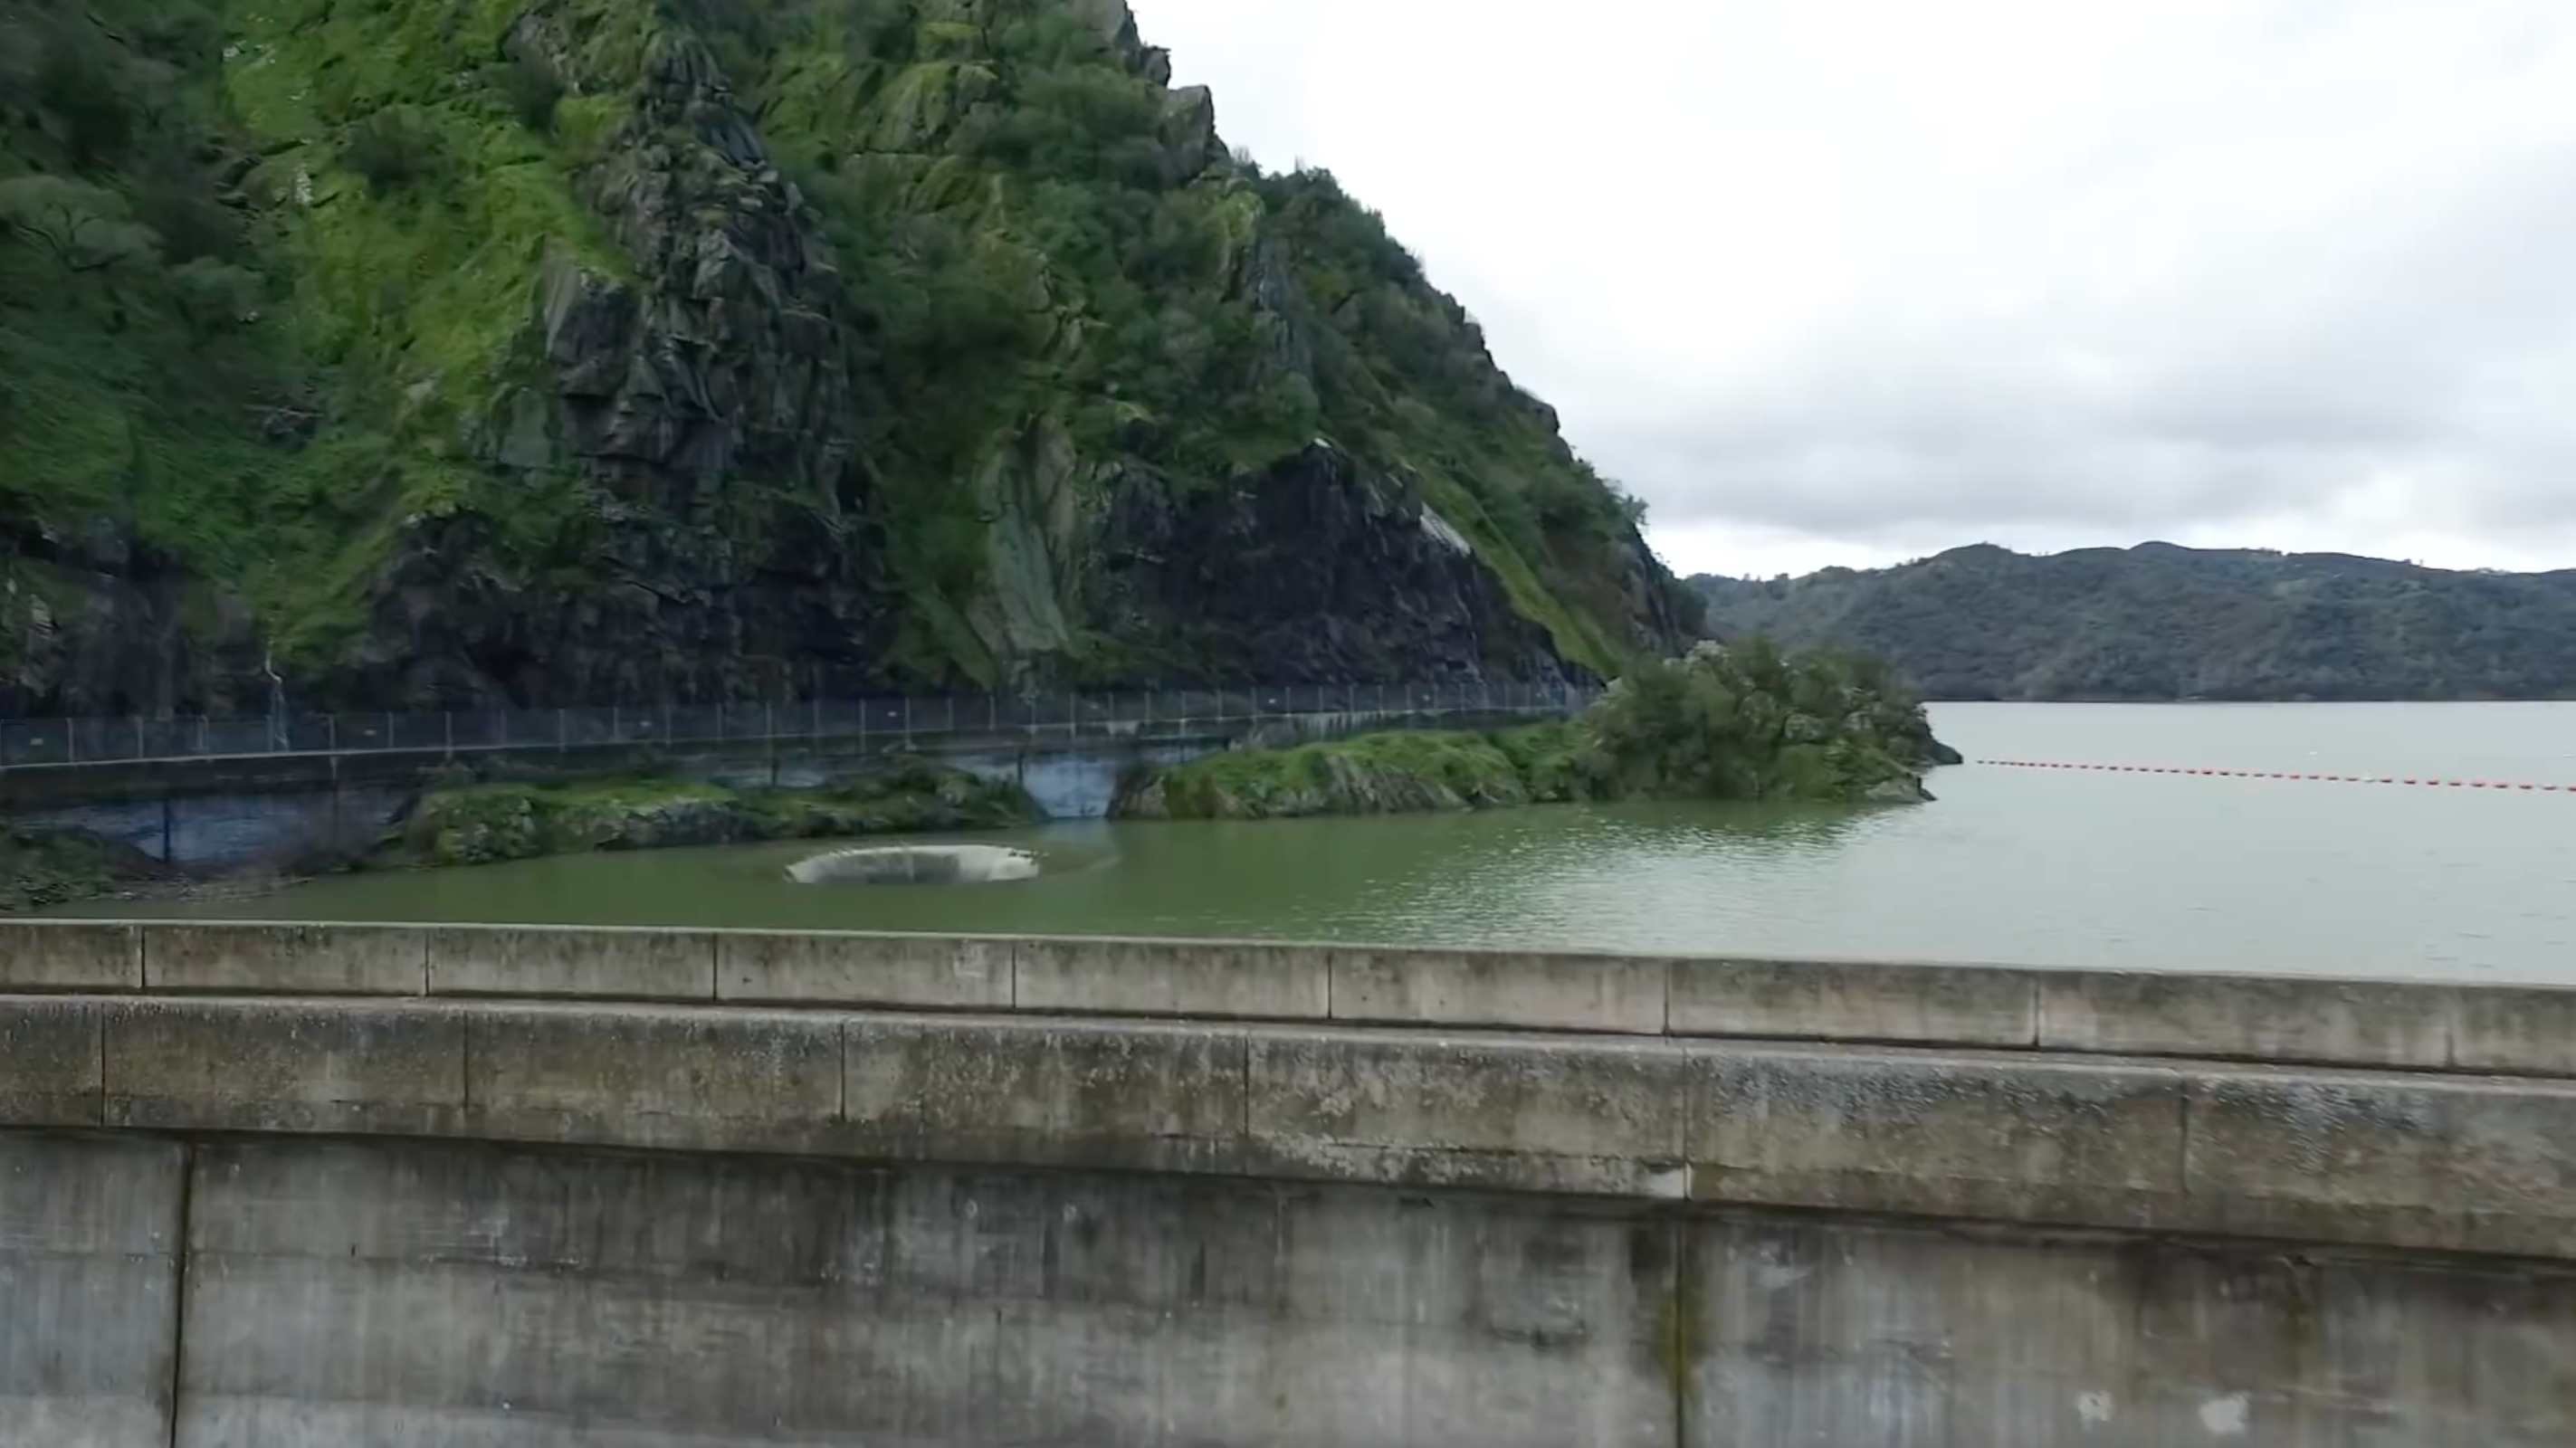
[{"label": "thin upper concrete parapet strip nearest the water", "polygon": [[0,992],[662,1000],[2576,1077],[2576,989],[1242,940],[0,922]]}]

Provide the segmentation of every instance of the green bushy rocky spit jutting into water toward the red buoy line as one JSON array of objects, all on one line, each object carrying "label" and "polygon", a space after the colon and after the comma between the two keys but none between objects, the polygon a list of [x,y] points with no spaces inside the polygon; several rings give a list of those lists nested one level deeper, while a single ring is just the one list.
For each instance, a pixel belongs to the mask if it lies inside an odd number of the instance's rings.
[{"label": "green bushy rocky spit jutting into water toward the red buoy line", "polygon": [[1958,763],[1873,660],[1703,644],[1615,683],[1582,719],[1494,734],[1363,734],[1211,755],[1131,781],[1131,819],[1285,819],[1579,799],[1911,801]]}]

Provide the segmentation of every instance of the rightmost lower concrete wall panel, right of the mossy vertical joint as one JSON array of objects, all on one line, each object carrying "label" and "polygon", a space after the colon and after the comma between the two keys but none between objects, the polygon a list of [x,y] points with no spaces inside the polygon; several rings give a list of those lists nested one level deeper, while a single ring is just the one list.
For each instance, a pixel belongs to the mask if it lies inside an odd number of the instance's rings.
[{"label": "rightmost lower concrete wall panel, right of the mossy vertical joint", "polygon": [[1692,1226],[1690,1448],[2558,1448],[2576,1278],[2530,1265]]}]

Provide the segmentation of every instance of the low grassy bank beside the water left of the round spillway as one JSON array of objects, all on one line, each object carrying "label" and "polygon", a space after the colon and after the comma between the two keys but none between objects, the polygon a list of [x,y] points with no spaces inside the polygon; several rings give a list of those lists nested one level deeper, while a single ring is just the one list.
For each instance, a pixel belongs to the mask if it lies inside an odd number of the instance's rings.
[{"label": "low grassy bank beside the water left of the round spillway", "polygon": [[739,791],[672,778],[474,783],[425,791],[374,863],[487,866],[592,850],[1002,830],[1036,819],[1036,804],[1018,786],[927,763],[822,791]]}]

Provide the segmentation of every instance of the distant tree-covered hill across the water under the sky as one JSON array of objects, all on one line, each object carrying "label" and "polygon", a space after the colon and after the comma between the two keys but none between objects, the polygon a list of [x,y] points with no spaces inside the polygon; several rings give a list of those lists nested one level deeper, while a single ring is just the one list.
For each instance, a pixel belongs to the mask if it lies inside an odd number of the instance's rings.
[{"label": "distant tree-covered hill across the water under the sky", "polygon": [[1690,585],[1718,636],[1880,652],[1927,698],[2576,698],[2576,569],[1978,544]]}]

